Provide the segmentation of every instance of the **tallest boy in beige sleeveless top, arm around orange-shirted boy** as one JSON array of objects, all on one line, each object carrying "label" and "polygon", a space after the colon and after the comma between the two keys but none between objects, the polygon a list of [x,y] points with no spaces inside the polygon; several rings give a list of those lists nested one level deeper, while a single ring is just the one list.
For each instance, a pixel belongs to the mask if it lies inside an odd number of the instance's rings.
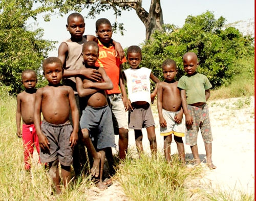
[{"label": "tallest boy in beige sleeveless top, arm around orange-shirted boy", "polygon": [[[67,19],[67,31],[69,31],[71,38],[63,41],[58,49],[58,58],[63,63],[63,80],[64,85],[71,86],[75,93],[76,104],[79,111],[79,118],[81,117],[81,112],[86,107],[86,100],[79,98],[76,90],[76,80],[75,76],[85,76],[88,79],[98,81],[101,78],[101,75],[98,70],[83,67],[83,58],[82,58],[82,46],[86,41],[94,40],[98,42],[98,39],[93,35],[83,35],[85,29],[84,18],[79,13],[72,13],[68,16]],[[120,43],[111,40],[111,43],[115,44],[116,52],[123,57],[123,49]],[[70,121],[71,115],[70,115]],[[79,129],[79,136],[81,131]],[[79,137],[80,138],[80,137]],[[80,141],[78,145],[74,148],[74,161],[73,166],[76,175],[81,173],[83,166],[86,162],[86,155],[84,146],[81,145]]]}]

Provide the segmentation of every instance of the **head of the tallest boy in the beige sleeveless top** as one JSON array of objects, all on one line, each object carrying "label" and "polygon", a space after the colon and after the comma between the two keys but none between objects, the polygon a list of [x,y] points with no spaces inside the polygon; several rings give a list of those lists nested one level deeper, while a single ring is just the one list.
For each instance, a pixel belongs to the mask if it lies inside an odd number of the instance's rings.
[{"label": "head of the tallest boy in the beige sleeveless top", "polygon": [[84,33],[84,18],[79,13],[71,13],[67,20],[67,31],[71,34],[71,38],[80,39]]}]

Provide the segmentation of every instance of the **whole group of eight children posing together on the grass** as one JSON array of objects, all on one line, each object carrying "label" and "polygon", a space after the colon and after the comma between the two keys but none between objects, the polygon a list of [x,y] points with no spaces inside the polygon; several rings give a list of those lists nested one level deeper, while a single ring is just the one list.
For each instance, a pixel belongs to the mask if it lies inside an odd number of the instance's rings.
[{"label": "whole group of eight children posing together on the grass", "polygon": [[[127,49],[130,68],[122,71],[121,64],[126,58],[120,43],[112,39],[108,19],[96,21],[97,37],[84,36],[84,28],[82,15],[69,15],[67,30],[71,38],[60,44],[58,57],[49,57],[42,63],[47,86],[36,90],[35,72],[26,70],[22,73],[25,91],[17,96],[16,122],[17,135],[24,141],[25,169],[30,169],[33,144],[38,153],[40,147],[40,162],[49,164],[56,193],[61,193],[58,163],[66,187],[70,182],[71,165],[80,157],[75,152],[80,141],[93,159],[91,174],[98,178],[97,186],[105,189],[110,183],[102,181],[104,159],[108,160],[113,174],[115,135],[119,135],[119,158],[122,160],[127,153],[128,128],[135,131],[139,154],[143,152],[141,129],[146,128],[152,154],[156,155],[155,122],[150,106],[156,94],[166,160],[171,161],[170,143],[174,134],[180,160],[185,164],[182,137],[186,129],[186,144],[191,146],[195,162],[199,164],[197,135],[200,128],[207,165],[210,169],[216,168],[211,161],[212,135],[206,104],[211,84],[204,75],[196,72],[196,54],[189,52],[183,56],[186,75],[179,81],[175,80],[176,62],[165,60],[162,64],[164,81],[160,82],[152,70],[140,67],[142,54],[138,46]],[[150,79],[156,83],[152,94]],[[127,110],[129,120],[125,115]],[[20,130],[21,117],[23,132]]]}]

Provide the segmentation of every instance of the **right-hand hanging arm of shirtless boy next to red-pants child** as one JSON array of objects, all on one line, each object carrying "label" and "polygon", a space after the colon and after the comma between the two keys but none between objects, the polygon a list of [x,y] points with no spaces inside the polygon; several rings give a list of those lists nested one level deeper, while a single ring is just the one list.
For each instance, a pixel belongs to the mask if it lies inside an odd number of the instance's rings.
[{"label": "right-hand hanging arm of shirtless boy next to red-pants child", "polygon": [[72,88],[69,90],[69,104],[71,109],[72,121],[73,121],[73,131],[70,135],[69,144],[73,148],[78,141],[78,125],[79,125],[79,112],[76,105],[75,94]]}]

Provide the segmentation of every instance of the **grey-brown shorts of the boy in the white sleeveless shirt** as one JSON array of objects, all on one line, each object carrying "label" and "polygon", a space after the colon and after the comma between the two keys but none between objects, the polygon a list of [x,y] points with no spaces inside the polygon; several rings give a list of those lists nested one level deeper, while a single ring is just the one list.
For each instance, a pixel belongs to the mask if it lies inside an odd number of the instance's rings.
[{"label": "grey-brown shorts of the boy in the white sleeveless shirt", "polygon": [[155,125],[149,103],[145,105],[132,105],[133,110],[129,111],[129,128],[141,129]]}]

